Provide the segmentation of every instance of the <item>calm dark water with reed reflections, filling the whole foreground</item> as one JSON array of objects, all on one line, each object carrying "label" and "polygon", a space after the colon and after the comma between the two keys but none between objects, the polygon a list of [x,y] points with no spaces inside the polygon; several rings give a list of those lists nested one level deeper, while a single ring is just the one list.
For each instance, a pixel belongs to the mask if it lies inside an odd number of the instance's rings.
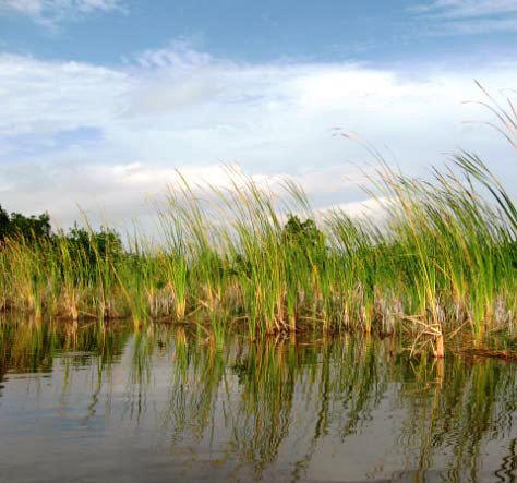
[{"label": "calm dark water with reed reflections, filling the whole foreground", "polygon": [[517,365],[0,322],[1,482],[514,481]]}]

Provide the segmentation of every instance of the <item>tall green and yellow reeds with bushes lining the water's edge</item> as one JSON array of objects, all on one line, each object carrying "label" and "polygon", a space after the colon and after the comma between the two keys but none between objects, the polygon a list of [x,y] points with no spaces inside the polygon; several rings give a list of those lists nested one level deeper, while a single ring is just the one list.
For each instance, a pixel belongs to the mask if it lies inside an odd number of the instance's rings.
[{"label": "tall green and yellow reeds with bushes lining the water's edge", "polygon": [[481,159],[453,160],[431,181],[381,162],[370,190],[381,221],[314,213],[293,182],[277,196],[230,170],[229,189],[169,190],[159,244],[29,224],[1,241],[0,309],[197,323],[216,341],[240,325],[251,339],[362,330],[435,357],[455,343],[517,352],[517,206]]}]

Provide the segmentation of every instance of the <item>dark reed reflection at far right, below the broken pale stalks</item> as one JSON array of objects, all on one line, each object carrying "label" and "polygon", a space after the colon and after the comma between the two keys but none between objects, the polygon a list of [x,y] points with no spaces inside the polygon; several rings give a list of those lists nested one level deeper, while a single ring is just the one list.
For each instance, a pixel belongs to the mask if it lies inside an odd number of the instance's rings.
[{"label": "dark reed reflection at far right, below the broken pale stalks", "polygon": [[483,444],[513,434],[515,367],[495,360],[472,362],[457,358],[429,364],[422,359],[404,381],[399,399],[408,416],[400,446],[408,452],[418,448],[419,472],[433,468],[434,457],[446,451],[445,481],[461,481],[466,472],[477,481]]}]

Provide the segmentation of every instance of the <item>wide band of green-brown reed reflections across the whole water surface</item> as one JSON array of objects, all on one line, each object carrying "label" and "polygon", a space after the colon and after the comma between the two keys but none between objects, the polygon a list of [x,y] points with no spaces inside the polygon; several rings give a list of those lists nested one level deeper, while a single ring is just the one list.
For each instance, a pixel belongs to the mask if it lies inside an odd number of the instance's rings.
[{"label": "wide band of green-brown reed reflections across the whole water surface", "polygon": [[[327,447],[325,439],[346,447],[356,444],[356,435],[375,431],[386,414],[384,402],[399,419],[396,433],[380,444],[395,437],[401,463],[422,479],[440,459],[446,481],[460,481],[466,471],[476,480],[484,445],[494,439],[508,440],[497,474],[515,470],[517,366],[461,357],[409,359],[397,354],[393,338],[380,341],[366,334],[255,342],[236,334],[221,337],[217,341],[189,325],[133,330],[118,323],[1,322],[0,371],[51,371],[55,354],[96,354],[93,412],[100,401],[112,404],[109,397],[99,398],[100,388],[123,361],[127,398],[119,403],[127,423],[155,418],[157,438],[165,444],[209,445],[256,478],[266,478],[286,455],[292,459],[292,480],[302,478]],[[120,359],[122,350],[128,357]],[[71,378],[77,364],[86,361],[60,358],[59,370]],[[153,391],[165,370],[170,378],[164,400]]]}]

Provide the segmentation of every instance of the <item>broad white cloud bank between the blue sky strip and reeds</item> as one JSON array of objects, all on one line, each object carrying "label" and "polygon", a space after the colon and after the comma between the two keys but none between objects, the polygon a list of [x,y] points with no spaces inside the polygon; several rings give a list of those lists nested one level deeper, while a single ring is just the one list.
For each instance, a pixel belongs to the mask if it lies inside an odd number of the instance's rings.
[{"label": "broad white cloud bank between the blue sky strip and reeds", "polygon": [[[184,45],[109,69],[0,55],[0,202],[48,209],[60,225],[77,216],[79,203],[118,222],[147,213],[146,197],[161,193],[176,168],[214,181],[220,164],[235,161],[261,182],[293,177],[316,207],[356,202],[364,177],[354,162],[372,159],[333,137],[337,125],[388,160],[396,153],[410,172],[461,145],[515,181],[501,137],[461,123],[489,120],[488,112],[461,101],[480,98],[473,77],[491,89],[514,87],[517,64],[411,71],[418,77],[347,63],[237,63]],[[99,135],[82,138],[86,128]]]}]

